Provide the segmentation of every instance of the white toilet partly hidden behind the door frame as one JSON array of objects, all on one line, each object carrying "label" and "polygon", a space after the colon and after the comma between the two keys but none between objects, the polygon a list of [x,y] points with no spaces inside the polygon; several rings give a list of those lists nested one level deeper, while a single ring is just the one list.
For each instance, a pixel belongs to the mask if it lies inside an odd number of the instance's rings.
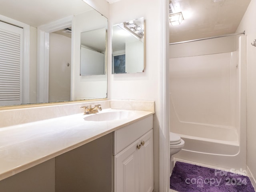
[{"label": "white toilet partly hidden behind the door frame", "polygon": [[174,167],[173,155],[178,153],[184,145],[184,140],[178,134],[170,132],[170,174]]}]

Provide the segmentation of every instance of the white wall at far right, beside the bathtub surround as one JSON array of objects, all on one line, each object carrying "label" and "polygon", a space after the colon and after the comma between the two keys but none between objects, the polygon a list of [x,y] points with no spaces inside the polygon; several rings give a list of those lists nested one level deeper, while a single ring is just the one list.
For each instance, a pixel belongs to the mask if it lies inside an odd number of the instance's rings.
[{"label": "white wall at far right, beside the bathtub surround", "polygon": [[247,166],[256,178],[256,47],[251,45],[256,39],[256,0],[252,0],[237,32],[245,30],[247,35]]}]

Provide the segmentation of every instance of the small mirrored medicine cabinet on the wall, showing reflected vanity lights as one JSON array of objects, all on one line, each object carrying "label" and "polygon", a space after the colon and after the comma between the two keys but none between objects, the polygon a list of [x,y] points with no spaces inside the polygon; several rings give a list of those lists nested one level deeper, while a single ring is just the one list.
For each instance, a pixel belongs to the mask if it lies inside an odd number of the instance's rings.
[{"label": "small mirrored medicine cabinet on the wall, showing reflected vanity lights", "polygon": [[112,74],[144,72],[144,18],[112,26]]}]

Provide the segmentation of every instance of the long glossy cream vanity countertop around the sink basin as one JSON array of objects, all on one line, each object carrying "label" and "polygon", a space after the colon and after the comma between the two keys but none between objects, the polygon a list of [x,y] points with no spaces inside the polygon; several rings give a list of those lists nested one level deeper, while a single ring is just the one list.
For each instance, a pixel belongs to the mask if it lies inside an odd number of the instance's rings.
[{"label": "long glossy cream vanity countertop around the sink basin", "polygon": [[[110,110],[120,111],[102,112]],[[114,121],[85,121],[84,114],[75,114],[0,128],[0,180],[154,114],[133,112],[130,118]]]}]

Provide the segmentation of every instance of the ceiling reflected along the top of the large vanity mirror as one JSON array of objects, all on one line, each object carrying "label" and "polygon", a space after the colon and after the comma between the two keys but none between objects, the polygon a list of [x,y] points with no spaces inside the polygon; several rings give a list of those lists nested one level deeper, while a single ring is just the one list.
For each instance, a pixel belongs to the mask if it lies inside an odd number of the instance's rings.
[{"label": "ceiling reflected along the top of the large vanity mirror", "polygon": [[91,9],[82,0],[1,0],[0,14],[37,27]]}]

